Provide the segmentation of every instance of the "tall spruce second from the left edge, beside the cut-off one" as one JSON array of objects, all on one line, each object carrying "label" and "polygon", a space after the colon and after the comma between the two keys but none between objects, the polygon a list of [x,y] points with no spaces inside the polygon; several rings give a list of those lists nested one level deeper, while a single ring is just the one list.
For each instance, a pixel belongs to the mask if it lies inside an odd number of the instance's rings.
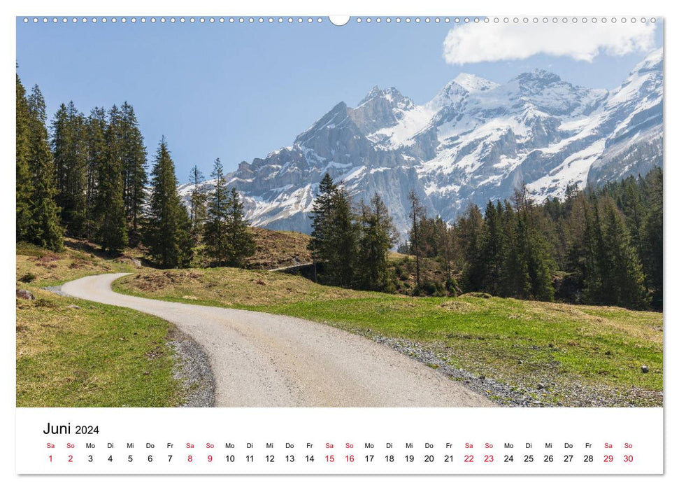
[{"label": "tall spruce second from the left edge, beside the cut-off one", "polygon": [[31,174],[31,221],[27,232],[30,241],[38,246],[59,250],[63,246],[59,225],[59,208],[55,202],[57,189],[54,162],[45,127],[45,99],[38,85],[28,99],[29,151],[28,167]]}]

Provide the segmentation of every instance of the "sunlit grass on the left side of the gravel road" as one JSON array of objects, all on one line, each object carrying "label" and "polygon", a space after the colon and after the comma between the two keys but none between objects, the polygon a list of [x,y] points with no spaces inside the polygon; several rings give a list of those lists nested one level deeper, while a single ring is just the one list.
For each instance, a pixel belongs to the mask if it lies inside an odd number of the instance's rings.
[{"label": "sunlit grass on the left side of the gravel road", "polygon": [[[71,245],[87,248],[84,242]],[[17,288],[36,296],[17,299],[17,406],[164,407],[183,401],[167,345],[170,323],[41,289],[90,274],[131,272],[130,264],[129,258],[104,260],[72,248],[52,253],[17,245]]]}]

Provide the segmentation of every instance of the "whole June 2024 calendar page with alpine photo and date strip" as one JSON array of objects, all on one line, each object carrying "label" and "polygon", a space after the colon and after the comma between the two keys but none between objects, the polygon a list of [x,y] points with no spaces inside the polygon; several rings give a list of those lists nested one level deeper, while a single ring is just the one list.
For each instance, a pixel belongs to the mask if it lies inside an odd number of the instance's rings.
[{"label": "whole June 2024 calendar page with alpine photo and date strip", "polygon": [[453,7],[15,18],[18,475],[664,472],[664,20]]}]

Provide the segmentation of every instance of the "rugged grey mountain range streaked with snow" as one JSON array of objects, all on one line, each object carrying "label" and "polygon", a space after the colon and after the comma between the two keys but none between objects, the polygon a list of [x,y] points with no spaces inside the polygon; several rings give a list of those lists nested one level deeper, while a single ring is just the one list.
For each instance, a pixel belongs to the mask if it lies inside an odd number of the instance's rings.
[{"label": "rugged grey mountain range streaked with snow", "polygon": [[452,221],[468,202],[483,207],[523,183],[542,200],[569,184],[645,174],[662,165],[662,97],[662,49],[610,92],[543,70],[502,85],[462,73],[422,105],[373,87],[355,108],[340,102],[292,146],[241,162],[227,179],[257,226],[309,232],[329,172],[356,200],[378,193],[405,231],[410,190]]}]

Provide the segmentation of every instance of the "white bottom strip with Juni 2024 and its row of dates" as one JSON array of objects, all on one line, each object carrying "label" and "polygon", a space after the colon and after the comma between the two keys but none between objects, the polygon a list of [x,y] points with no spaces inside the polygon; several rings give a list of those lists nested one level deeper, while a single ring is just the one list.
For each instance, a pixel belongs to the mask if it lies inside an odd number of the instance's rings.
[{"label": "white bottom strip with Juni 2024 and its row of dates", "polygon": [[663,471],[657,408],[17,409],[17,428],[26,474]]}]

